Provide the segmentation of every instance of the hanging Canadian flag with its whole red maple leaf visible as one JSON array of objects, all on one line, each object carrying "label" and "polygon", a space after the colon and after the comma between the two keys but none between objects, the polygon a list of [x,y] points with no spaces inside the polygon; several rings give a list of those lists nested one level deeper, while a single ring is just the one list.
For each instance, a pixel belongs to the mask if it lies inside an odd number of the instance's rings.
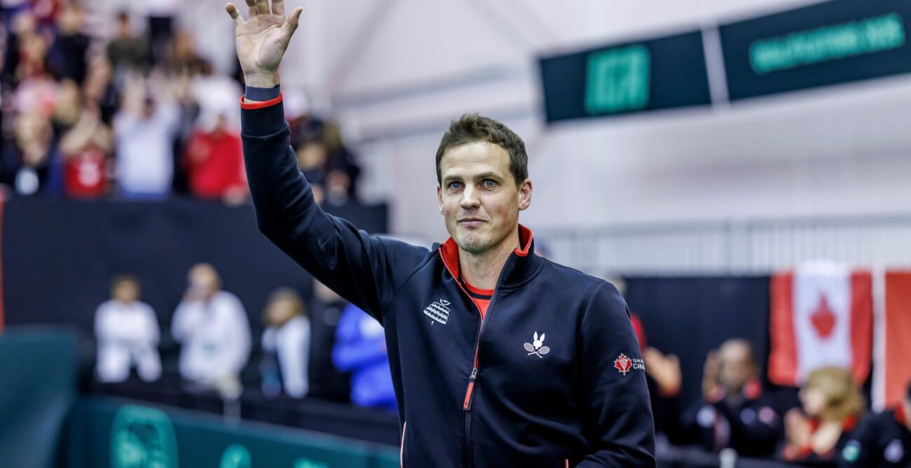
[{"label": "hanging Canadian flag with its whole red maple leaf visible", "polygon": [[863,383],[873,344],[873,276],[814,262],[772,278],[769,380],[798,386],[820,367],[852,369]]}]

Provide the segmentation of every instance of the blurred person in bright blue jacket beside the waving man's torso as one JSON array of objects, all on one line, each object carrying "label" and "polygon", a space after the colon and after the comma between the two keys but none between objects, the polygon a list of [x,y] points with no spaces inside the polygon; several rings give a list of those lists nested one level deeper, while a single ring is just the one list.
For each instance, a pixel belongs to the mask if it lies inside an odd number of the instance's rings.
[{"label": "blurred person in bright blue jacket beside the waving man's torso", "polygon": [[352,403],[396,410],[383,325],[353,304],[344,308],[335,330],[333,363],[352,373]]}]

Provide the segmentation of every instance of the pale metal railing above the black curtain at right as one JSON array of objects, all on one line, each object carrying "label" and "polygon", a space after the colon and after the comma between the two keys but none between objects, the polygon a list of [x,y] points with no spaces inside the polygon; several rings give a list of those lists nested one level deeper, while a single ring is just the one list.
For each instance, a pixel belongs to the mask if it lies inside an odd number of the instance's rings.
[{"label": "pale metal railing above the black curtain at right", "polygon": [[806,260],[911,266],[911,214],[538,229],[592,274],[767,274]]}]

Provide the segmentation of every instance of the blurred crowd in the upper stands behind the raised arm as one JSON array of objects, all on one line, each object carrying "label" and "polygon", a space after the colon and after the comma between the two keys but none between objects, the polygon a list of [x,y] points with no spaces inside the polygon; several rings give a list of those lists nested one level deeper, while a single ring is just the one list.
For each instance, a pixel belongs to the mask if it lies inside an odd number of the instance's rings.
[{"label": "blurred crowd in the upper stands behind the raised arm", "polygon": [[[192,33],[173,17],[176,5],[171,12],[115,18],[93,15],[74,0],[4,5],[0,188],[6,194],[145,200],[189,194],[233,204],[247,198],[241,73],[219,72],[200,54]],[[360,169],[341,129],[311,115],[304,95],[285,95],[292,144],[318,200],[354,200]]]}]

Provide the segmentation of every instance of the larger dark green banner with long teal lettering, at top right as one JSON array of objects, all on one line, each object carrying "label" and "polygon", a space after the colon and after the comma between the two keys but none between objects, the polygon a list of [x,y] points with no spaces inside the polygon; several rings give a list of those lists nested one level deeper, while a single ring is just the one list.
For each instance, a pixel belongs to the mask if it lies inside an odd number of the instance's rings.
[{"label": "larger dark green banner with long teal lettering, at top right", "polygon": [[833,0],[720,28],[731,100],[911,72],[911,2]]}]

